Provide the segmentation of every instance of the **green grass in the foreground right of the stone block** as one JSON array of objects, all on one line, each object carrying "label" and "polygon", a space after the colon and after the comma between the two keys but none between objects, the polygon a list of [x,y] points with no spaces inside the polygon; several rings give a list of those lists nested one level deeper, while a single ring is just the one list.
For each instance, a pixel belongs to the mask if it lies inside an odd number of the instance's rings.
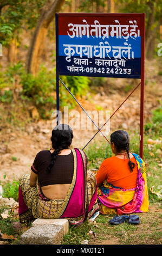
[{"label": "green grass in the foreground right of the stone block", "polygon": [[122,245],[160,244],[160,213],[148,212],[139,216],[140,224],[138,225],[127,222],[112,225],[108,222],[112,216],[99,215],[94,223],[85,222],[80,227],[70,227],[69,234],[64,236],[63,244],[76,245],[84,240],[88,240],[89,244],[98,244],[98,241],[102,243],[103,240],[115,240]]}]

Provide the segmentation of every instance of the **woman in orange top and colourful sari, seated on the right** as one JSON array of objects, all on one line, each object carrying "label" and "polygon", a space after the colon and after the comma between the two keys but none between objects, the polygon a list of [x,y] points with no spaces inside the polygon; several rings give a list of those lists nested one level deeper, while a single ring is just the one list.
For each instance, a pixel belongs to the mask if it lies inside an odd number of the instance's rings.
[{"label": "woman in orange top and colourful sari, seated on the right", "polygon": [[126,131],[111,134],[111,149],[115,156],[105,159],[96,174],[101,214],[147,212],[145,163],[139,155],[129,152]]}]

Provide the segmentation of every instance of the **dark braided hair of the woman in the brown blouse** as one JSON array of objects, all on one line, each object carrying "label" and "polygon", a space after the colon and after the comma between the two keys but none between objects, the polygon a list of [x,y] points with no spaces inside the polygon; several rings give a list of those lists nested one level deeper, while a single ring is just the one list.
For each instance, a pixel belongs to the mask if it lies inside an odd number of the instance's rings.
[{"label": "dark braided hair of the woman in the brown blouse", "polygon": [[47,172],[51,171],[51,168],[54,166],[57,155],[60,153],[60,151],[62,149],[68,149],[70,144],[72,143],[72,128],[66,124],[59,124],[53,129],[50,139],[52,147],[55,151],[51,154],[51,163],[47,167]]}]

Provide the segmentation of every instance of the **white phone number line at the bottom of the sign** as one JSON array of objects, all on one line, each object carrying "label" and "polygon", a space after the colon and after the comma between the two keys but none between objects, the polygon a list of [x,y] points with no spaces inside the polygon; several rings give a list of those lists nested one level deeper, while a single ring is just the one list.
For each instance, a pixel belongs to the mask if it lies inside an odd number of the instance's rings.
[{"label": "white phone number line at the bottom of the sign", "polygon": [[131,75],[131,69],[120,69],[120,68],[83,68],[83,66],[67,66],[70,72],[86,72],[86,73],[99,73],[99,74],[127,74]]}]

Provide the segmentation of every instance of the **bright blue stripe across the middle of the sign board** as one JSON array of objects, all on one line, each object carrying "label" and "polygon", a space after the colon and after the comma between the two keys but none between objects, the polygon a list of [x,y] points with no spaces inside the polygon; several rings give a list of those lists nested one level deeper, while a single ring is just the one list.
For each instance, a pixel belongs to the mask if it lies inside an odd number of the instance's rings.
[{"label": "bright blue stripe across the middle of the sign board", "polygon": [[[128,38],[126,39],[118,39],[116,38],[116,36],[114,36],[113,38],[111,36],[109,36],[109,38],[105,38],[104,40],[102,38],[93,38],[92,36],[89,36],[89,38],[87,38],[87,36],[82,36],[82,38],[70,38],[68,35],[59,35],[59,56],[66,56],[66,54],[64,53],[64,48],[66,48],[67,46],[63,46],[63,45],[100,45],[100,42],[103,42],[104,45],[106,46],[107,44],[105,44],[105,42],[108,42],[109,46],[128,46],[130,45],[131,48],[131,52],[134,52],[134,58],[140,58],[141,57],[141,36],[137,37],[136,39],[133,38]],[[124,43],[127,43],[128,45],[124,45]],[[74,47],[75,49],[75,47]],[[93,48],[93,52],[94,52],[94,48]],[[113,52],[111,50],[111,52],[108,53],[109,57],[113,57]],[[75,52],[74,56],[79,56],[79,54],[77,54]],[[85,56],[83,54],[83,56]],[[94,56],[94,54],[93,54]]]}]

